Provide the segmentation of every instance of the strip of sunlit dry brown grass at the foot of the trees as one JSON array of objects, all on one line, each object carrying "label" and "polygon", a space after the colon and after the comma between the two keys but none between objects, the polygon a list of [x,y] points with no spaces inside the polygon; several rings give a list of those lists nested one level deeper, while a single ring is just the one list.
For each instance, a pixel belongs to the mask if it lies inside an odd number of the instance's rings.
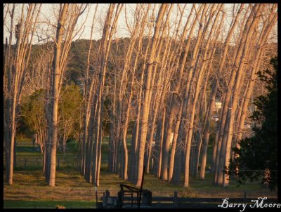
[{"label": "strip of sunlit dry brown grass at the foot of the trees", "polygon": [[[210,181],[192,179],[189,188],[181,185],[171,185],[159,180],[153,175],[145,175],[143,189],[151,190],[152,197],[173,197],[174,191],[178,191],[179,197],[268,197],[276,198],[277,192],[270,192],[268,188],[259,185],[242,185],[236,187],[235,184],[228,188],[210,185]],[[4,200],[24,200],[24,201],[95,201],[95,191],[93,185],[86,183],[84,178],[75,171],[57,171],[56,186],[46,186],[44,175],[41,171],[16,171],[14,185],[9,186],[4,183]],[[103,195],[105,190],[109,190],[112,196],[116,196],[119,191],[119,184],[125,182],[118,175],[107,171],[102,171],[100,176],[100,187],[98,187],[98,197]],[[132,185],[133,186],[133,185]]]}]

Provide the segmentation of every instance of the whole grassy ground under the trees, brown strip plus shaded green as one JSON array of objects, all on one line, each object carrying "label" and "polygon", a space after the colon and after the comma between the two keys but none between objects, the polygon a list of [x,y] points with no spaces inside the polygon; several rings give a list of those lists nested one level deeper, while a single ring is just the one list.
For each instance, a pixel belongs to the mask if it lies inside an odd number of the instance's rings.
[{"label": "whole grassy ground under the trees, brown strip plus shaded green", "polygon": [[[112,196],[119,191],[119,184],[125,182],[119,175],[107,171],[107,144],[103,141],[102,165],[98,199],[105,190]],[[41,153],[34,152],[30,140],[18,142],[17,166],[15,167],[13,185],[4,183],[4,208],[96,208],[96,195],[93,185],[86,183],[77,171],[77,144],[68,143],[68,152],[59,152],[60,167],[56,171],[55,187],[48,187],[42,173]],[[209,152],[211,154],[211,150]],[[58,164],[58,161],[57,161]],[[4,171],[5,177],[5,171]],[[277,192],[258,183],[247,183],[237,187],[235,179],[230,186],[216,187],[211,185],[213,175],[207,173],[206,180],[190,178],[190,187],[172,185],[159,180],[152,174],[145,174],[143,189],[152,191],[152,197],[172,197],[178,191],[179,197],[277,197]],[[133,185],[132,185],[133,186]]]}]

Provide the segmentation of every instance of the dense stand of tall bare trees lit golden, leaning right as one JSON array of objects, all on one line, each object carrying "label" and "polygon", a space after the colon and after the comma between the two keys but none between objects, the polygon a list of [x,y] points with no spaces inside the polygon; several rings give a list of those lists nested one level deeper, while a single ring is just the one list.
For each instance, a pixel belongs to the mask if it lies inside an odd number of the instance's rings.
[{"label": "dense stand of tall bare trees lit golden, leaning right", "polygon": [[[116,39],[119,14],[126,4],[110,4],[102,37],[94,41],[96,5],[91,8],[90,40],[73,42],[74,25],[86,6],[60,4],[55,41],[30,45],[33,51],[26,56],[20,91],[22,95],[46,91],[44,171],[49,185],[55,185],[58,102],[70,81],[80,86],[83,96],[79,164],[87,182],[99,185],[101,143],[107,128],[108,170],[124,180],[140,186],[145,171],[174,184],[183,180],[188,187],[189,176],[204,179],[211,164],[214,183],[228,185],[229,175],[223,170],[237,157],[232,147],[239,148],[249,101],[264,86],[256,80],[256,72],[265,69],[276,54],[271,39],[277,4],[233,4],[231,12],[225,7],[192,4],[188,10],[188,4],[136,4],[131,22],[125,13],[131,36]],[[67,27],[62,28],[63,23]],[[25,43],[19,40],[13,48],[7,40],[7,85],[9,74],[19,68],[11,61],[17,61],[14,55]],[[9,94],[13,89],[4,88],[6,167],[10,167],[6,173],[11,179],[15,126],[8,123],[15,121],[9,114],[15,112],[10,105],[13,93]],[[217,122],[212,120],[216,100],[222,102]],[[14,105],[18,107],[20,100]],[[211,135],[213,154],[207,161]]]}]

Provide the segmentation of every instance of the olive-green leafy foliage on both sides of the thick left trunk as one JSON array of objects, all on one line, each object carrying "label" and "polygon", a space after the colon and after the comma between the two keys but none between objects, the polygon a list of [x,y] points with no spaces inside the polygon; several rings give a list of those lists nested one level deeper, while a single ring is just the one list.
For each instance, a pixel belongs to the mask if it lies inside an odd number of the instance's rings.
[{"label": "olive-green leafy foliage on both sides of the thick left trunk", "polygon": [[[46,128],[45,93],[46,91],[44,90],[35,91],[32,95],[23,99],[19,133],[31,134],[29,137],[32,138],[33,133],[40,130],[44,131]],[[79,86],[65,86],[58,106],[58,133],[60,136],[66,133],[67,138],[75,138],[77,140],[77,137],[79,137],[81,104],[82,95]]]}]

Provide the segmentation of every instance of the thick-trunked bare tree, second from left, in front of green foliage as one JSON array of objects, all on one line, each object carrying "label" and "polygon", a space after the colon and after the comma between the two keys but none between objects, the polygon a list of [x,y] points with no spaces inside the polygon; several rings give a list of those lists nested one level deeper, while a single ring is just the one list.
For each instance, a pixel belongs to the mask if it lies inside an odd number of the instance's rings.
[{"label": "thick-trunked bare tree, second from left, in front of green foliage", "polygon": [[67,55],[70,51],[74,27],[79,16],[85,11],[84,4],[60,4],[58,14],[58,24],[56,27],[56,36],[54,39],[54,56],[53,56],[53,79],[51,80],[51,120],[48,134],[48,150],[50,161],[48,161],[48,173],[46,180],[48,185],[55,186],[55,162],[56,162],[56,145],[58,139],[58,100],[60,98],[60,89],[63,83],[63,75],[67,61]]}]

